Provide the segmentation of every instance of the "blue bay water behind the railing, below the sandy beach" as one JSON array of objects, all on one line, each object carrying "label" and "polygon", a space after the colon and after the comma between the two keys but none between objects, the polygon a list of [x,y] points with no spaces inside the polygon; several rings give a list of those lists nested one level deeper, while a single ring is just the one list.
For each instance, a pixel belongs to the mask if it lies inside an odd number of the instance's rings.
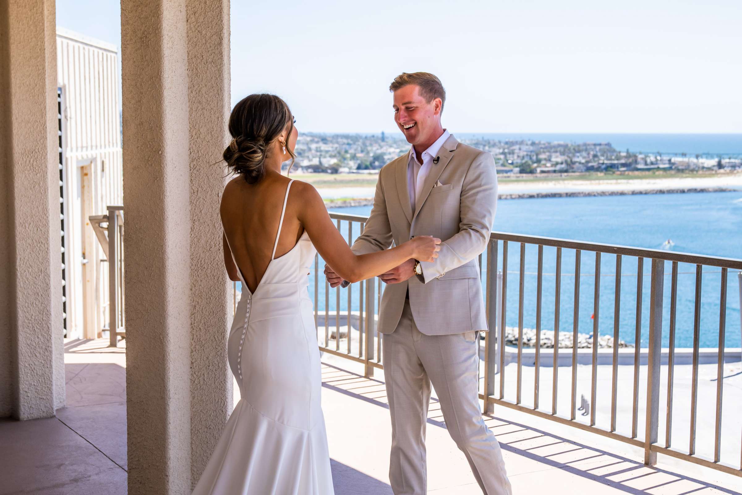
[{"label": "blue bay water behind the railing, below the sandy beach", "polygon": [[[345,214],[367,215],[370,206],[333,209]],[[558,197],[522,200],[501,200],[498,203],[493,229],[500,232],[588,240],[598,243],[669,249],[700,255],[742,258],[742,191],[693,194],[640,194],[633,196]],[[341,232],[348,237],[348,225],[341,222]],[[359,235],[358,225],[350,237]],[[485,252],[486,256],[486,252]],[[509,327],[518,325],[519,243],[508,246],[508,282],[506,320]],[[525,250],[524,327],[536,327],[536,246]],[[486,258],[483,258],[486,260]],[[543,258],[542,329],[554,329],[554,294],[556,282],[556,249],[545,247]],[[612,335],[614,326],[615,268],[614,255],[602,255],[600,264],[600,335]],[[483,263],[484,264],[484,263]],[[637,324],[637,258],[623,257],[620,284],[620,338],[635,342]],[[502,268],[502,243],[499,248],[499,269]],[[320,273],[324,263],[320,260]],[[595,256],[583,252],[580,262],[580,304],[578,331],[591,333],[594,316]],[[665,301],[663,316],[663,346],[669,344],[669,293],[672,263],[665,266]],[[640,345],[647,345],[649,335],[649,292],[651,260],[643,266],[643,297],[641,301]],[[695,265],[679,263],[677,277],[676,347],[692,347],[695,298]],[[559,330],[572,332],[574,324],[574,250],[562,252],[562,281]],[[486,275],[486,266],[483,266]],[[719,338],[720,269],[704,267],[701,289],[700,345],[716,347]],[[324,277],[318,284],[318,309],[325,311]],[[309,292],[314,298],[314,271]],[[338,289],[329,290],[329,314],[335,313]],[[730,270],[726,286],[726,347],[740,347],[740,280]],[[339,289],[340,309],[348,307],[347,289]],[[358,310],[358,284],[352,289],[351,309]],[[332,322],[332,317],[330,319]]]}]

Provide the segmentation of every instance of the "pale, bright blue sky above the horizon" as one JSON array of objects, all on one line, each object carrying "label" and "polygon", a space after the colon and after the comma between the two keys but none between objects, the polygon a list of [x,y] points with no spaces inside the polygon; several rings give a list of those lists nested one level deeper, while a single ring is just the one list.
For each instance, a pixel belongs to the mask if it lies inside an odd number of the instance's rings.
[{"label": "pale, bright blue sky above the horizon", "polygon": [[[120,45],[119,2],[57,24]],[[389,83],[436,73],[458,132],[742,133],[742,1],[232,1],[232,102],[300,131],[398,132]]]}]

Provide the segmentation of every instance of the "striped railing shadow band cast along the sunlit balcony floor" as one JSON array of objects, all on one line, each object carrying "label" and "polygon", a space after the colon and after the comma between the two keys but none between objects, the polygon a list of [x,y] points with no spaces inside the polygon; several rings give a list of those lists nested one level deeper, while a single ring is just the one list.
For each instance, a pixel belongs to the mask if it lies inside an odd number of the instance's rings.
[{"label": "striped railing shadow band cast along the sunlit balcony floor", "polygon": [[[323,361],[324,370],[322,372],[322,386],[342,393],[346,396],[367,401],[385,409],[389,408],[386,400],[386,390],[384,381],[375,378],[365,378],[358,373],[344,370],[341,367],[328,364]],[[344,387],[349,385],[349,387]],[[437,402],[436,398],[432,399]],[[429,409],[428,424],[445,428],[442,421],[439,407],[431,404]],[[430,417],[432,416],[432,417]],[[594,482],[599,482],[605,486],[618,489],[632,495],[654,495],[658,488],[664,488],[663,493],[669,495],[685,495],[697,491],[712,488],[723,494],[738,494],[739,492],[723,488],[712,483],[703,482],[683,474],[672,471],[648,466],[643,462],[628,459],[626,457],[600,450],[580,442],[565,439],[548,433],[538,428],[529,427],[506,419],[493,416],[491,414],[483,415],[485,423],[490,430],[495,433],[500,443],[500,448],[519,456],[524,456],[544,465],[557,468],[562,471],[581,476]],[[508,439],[508,436],[516,435],[517,439]],[[539,445],[528,446],[522,444],[525,442],[538,441]],[[539,453],[539,450],[546,450]],[[553,452],[549,450],[554,450]],[[562,460],[559,460],[562,456]],[[570,460],[564,459],[565,457]],[[613,460],[614,462],[606,462]],[[600,465],[591,467],[591,463],[600,462]],[[577,464],[581,463],[581,464]],[[657,477],[656,482],[650,476]],[[678,483],[677,490],[669,490],[669,485]],[[631,486],[643,485],[643,488]],[[382,483],[382,485],[384,485]]]}]

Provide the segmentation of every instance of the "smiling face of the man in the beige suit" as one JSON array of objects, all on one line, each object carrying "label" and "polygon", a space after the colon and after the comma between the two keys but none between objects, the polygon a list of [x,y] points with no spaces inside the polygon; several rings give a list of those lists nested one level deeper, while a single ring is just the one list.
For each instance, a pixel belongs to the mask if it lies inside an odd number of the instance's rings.
[{"label": "smiling face of the man in the beige suit", "polygon": [[418,85],[407,85],[394,92],[394,120],[407,142],[427,142],[440,125],[441,99],[428,102]]}]

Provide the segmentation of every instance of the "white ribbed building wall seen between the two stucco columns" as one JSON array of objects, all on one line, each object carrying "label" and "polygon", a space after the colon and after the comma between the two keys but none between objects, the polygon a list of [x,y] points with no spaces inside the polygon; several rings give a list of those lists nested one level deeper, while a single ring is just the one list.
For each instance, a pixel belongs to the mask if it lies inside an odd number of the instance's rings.
[{"label": "white ribbed building wall seen between the two stucco columns", "polygon": [[[94,338],[108,321],[108,266],[87,217],[122,204],[121,123],[118,50],[98,40],[56,29],[57,81],[62,88],[62,153],[67,203],[68,337]],[[88,211],[82,216],[81,167],[90,174]],[[88,242],[87,252],[83,235]],[[88,263],[83,269],[82,256]],[[85,275],[85,276],[83,276]],[[83,304],[85,289],[88,304]],[[85,324],[84,307],[93,306]]]}]

